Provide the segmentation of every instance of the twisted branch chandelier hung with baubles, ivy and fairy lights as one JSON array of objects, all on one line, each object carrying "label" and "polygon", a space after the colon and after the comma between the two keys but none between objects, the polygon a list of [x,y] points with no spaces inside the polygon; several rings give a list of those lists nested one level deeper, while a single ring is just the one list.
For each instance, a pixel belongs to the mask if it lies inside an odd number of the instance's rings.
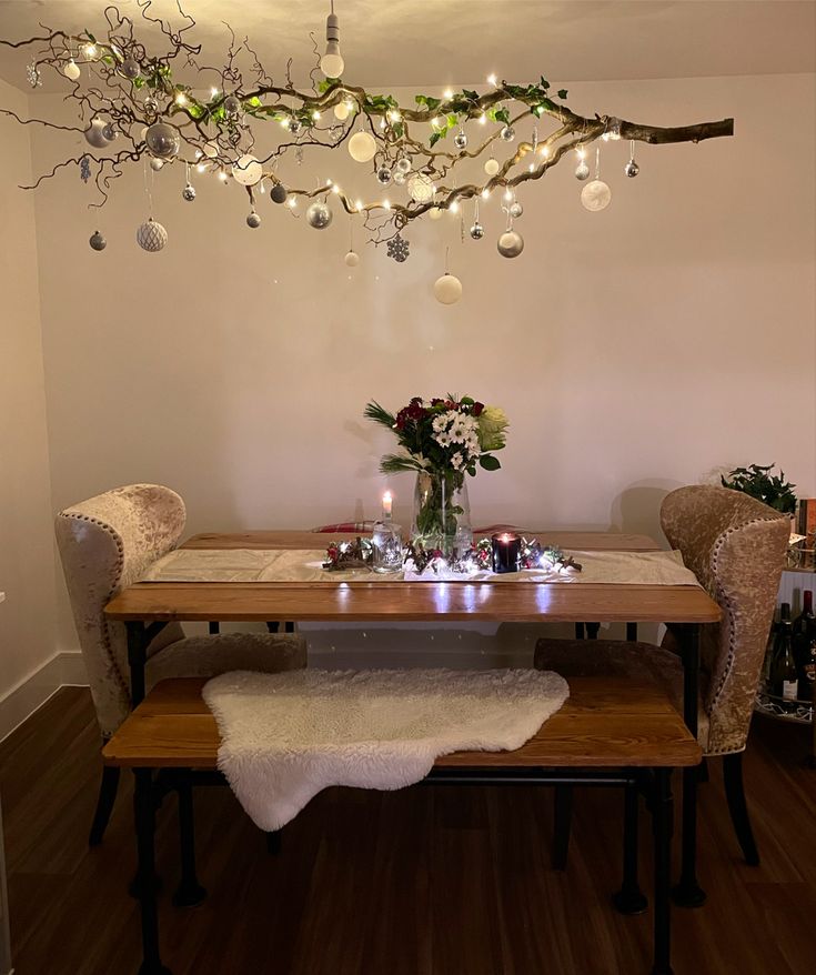
[{"label": "twisted branch chandelier hung with baubles, ivy and fairy lights", "polygon": [[[514,227],[523,213],[517,191],[542,179],[563,159],[575,164],[575,177],[583,183],[582,204],[601,211],[612,199],[601,179],[603,142],[629,142],[624,172],[634,178],[639,171],[636,142],[701,142],[734,133],[733,119],[657,128],[605,114],[585,118],[567,108],[566,91],[553,91],[543,77],[531,84],[511,84],[491,76],[482,93],[463,89],[447,90],[440,98],[417,94],[415,104],[404,108],[390,94],[373,94],[343,80],[345,64],[333,3],[326,20],[325,53],[321,56],[314,44],[319,61],[310,76],[313,86],[299,91],[291,79],[291,59],[285,83],[276,84],[249,40],[236,43],[230,28],[232,40],[224,63],[200,63],[201,44],[188,40],[195,21],[180,2],[183,26],[179,29],[150,13],[152,0],[137,3],[141,19],[161,31],[167,53],[154,53],[140,42],[133,20],[112,6],[104,10],[103,39],[88,30],[70,34],[43,27],[40,37],[0,40],[6,47],[33,49],[26,69],[32,88],[42,83],[43,71],[60,77],[69,89],[66,101],[77,109],[78,124],[23,120],[7,109],[0,111],[21,124],[84,137],[81,153],[57,163],[23,189],[34,189],[60,170],[78,167],[83,182],[92,181],[99,191],[99,200],[90,207],[100,208],[125,165],[144,167],[149,219],[138,228],[137,241],[147,251],[160,251],[168,241],[167,230],[152,215],[152,181],[159,172],[167,179],[168,169],[182,169],[181,195],[190,203],[195,201],[194,180],[199,178],[241,184],[250,208],[246,223],[253,229],[261,224],[256,208],[265,194],[292,215],[298,215],[299,203],[304,204],[306,222],[315,230],[329,227],[342,208],[350,215],[349,267],[360,261],[351,245],[356,222],[373,243],[386,244],[389,257],[402,262],[409,257],[403,231],[425,217],[435,220],[446,212],[454,214],[463,240],[466,233],[474,241],[482,240],[485,228],[480,222],[480,202],[484,205],[498,193],[506,221],[497,240],[498,253],[516,258],[524,249],[524,239]],[[242,70],[239,61],[249,63],[249,70]],[[324,78],[319,80],[320,74]],[[274,130],[278,144],[263,153],[256,148],[255,133],[270,123],[280,127]],[[332,179],[299,189],[291,185],[294,179],[279,175],[285,157],[301,163],[306,152],[316,157],[321,150],[345,150],[365,167],[369,184],[376,185],[375,199],[366,201],[347,193]],[[460,167],[471,160],[482,162],[484,178],[459,183]],[[472,214],[467,220],[465,207]],[[107,242],[97,231],[90,245],[101,251]],[[461,282],[447,267],[434,284],[434,293],[444,304],[461,296]]]}]

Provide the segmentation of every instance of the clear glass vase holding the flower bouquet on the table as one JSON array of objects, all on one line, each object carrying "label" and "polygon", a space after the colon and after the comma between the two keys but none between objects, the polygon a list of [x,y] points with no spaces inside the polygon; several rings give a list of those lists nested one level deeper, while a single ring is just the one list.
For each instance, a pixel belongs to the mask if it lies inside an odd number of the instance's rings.
[{"label": "clear glass vase holding the flower bouquet on the table", "polygon": [[450,559],[473,541],[464,471],[420,471],[414,490],[411,541]]}]

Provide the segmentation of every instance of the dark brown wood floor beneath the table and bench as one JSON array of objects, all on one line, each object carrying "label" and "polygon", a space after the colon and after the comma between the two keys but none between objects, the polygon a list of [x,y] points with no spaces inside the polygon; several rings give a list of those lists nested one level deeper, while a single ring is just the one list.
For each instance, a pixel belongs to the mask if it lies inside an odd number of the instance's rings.
[{"label": "dark brown wood floor beneath the table and bench", "polygon": [[[0,745],[17,975],[135,975],[130,782],[102,847],[87,832],[100,771],[90,697],[66,688]],[[675,975],[815,969],[816,772],[807,734],[755,722],[746,778],[763,855],[742,864],[718,763],[702,787],[709,903],[675,911]],[[570,865],[550,866],[551,793],[333,790],[270,857],[226,788],[198,793],[210,897],[177,909],[175,815],[159,820],[164,962],[173,975],[637,975],[651,914],[621,917],[619,800],[578,790]],[[644,831],[644,834],[646,831]],[[644,835],[644,877],[649,875]]]}]

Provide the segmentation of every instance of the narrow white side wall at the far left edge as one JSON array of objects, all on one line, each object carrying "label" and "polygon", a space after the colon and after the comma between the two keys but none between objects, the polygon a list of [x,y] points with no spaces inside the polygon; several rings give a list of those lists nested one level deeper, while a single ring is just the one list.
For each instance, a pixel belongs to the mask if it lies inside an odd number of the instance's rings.
[{"label": "narrow white side wall at the far left edge", "polygon": [[[0,104],[27,114],[0,81]],[[0,703],[56,651],[51,482],[29,130],[0,117]],[[2,722],[0,722],[2,730]]]}]

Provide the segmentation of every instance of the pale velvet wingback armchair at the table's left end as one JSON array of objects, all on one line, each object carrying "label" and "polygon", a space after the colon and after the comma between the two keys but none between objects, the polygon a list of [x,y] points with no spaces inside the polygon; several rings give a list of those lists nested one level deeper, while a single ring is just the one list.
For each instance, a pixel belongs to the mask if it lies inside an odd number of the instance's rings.
[{"label": "pale velvet wingback armchair at the table's left end", "polygon": [[[182,499],[158,484],[117,488],[57,516],[57,542],[103,741],[130,712],[124,625],[107,620],[104,607],[175,547],[185,516]],[[165,677],[215,676],[234,670],[279,672],[305,665],[305,642],[300,636],[185,636],[179,623],[169,623],[148,649],[145,680],[150,687]],[[118,784],[119,770],[105,767],[92,845],[102,840]]]}]

